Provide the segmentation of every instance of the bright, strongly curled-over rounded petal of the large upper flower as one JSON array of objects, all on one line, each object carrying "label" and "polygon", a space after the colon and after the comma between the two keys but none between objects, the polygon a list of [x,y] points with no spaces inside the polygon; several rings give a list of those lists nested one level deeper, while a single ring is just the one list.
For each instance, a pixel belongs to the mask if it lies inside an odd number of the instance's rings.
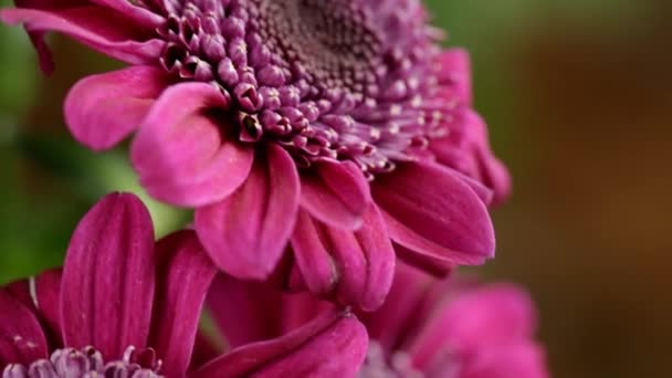
[{"label": "bright, strongly curled-over rounded petal of the large upper flower", "polygon": [[133,141],[130,158],[155,198],[199,207],[231,195],[250,174],[254,150],[228,138],[207,113],[228,101],[212,85],[170,86],[153,105]]}]

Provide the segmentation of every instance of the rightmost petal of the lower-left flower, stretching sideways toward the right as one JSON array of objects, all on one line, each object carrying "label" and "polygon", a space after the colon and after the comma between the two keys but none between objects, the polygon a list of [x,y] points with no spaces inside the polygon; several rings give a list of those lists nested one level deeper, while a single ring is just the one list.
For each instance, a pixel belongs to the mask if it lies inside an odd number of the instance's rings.
[{"label": "rightmost petal of the lower-left flower, stretching sideways toward the right", "polygon": [[251,344],[192,377],[354,377],[366,356],[366,328],[348,313],[325,315],[277,339]]}]

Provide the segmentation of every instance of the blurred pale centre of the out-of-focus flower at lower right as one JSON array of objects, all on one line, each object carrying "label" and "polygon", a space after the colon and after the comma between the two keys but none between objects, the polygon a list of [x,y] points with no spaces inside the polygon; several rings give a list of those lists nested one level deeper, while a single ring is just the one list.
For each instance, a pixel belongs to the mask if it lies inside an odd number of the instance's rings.
[{"label": "blurred pale centre of the out-of-focus flower at lower right", "polygon": [[369,342],[366,360],[359,370],[358,378],[422,378],[424,374],[411,365],[410,356],[397,351],[391,356],[376,340]]}]

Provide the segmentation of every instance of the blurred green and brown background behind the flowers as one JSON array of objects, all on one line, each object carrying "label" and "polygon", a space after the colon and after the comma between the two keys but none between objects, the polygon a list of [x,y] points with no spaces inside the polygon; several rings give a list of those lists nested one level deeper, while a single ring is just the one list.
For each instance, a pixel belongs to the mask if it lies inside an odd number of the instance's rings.
[{"label": "blurred green and brown background behind the flowers", "polygon": [[[555,377],[670,376],[672,2],[427,2],[472,52],[477,109],[515,179],[494,211],[497,259],[477,272],[533,293]],[[124,151],[94,155],[63,126],[77,77],[119,64],[52,45],[45,77],[20,28],[0,25],[0,283],[59,265],[107,191],[140,192]],[[150,209],[159,234],[189,220]]]}]

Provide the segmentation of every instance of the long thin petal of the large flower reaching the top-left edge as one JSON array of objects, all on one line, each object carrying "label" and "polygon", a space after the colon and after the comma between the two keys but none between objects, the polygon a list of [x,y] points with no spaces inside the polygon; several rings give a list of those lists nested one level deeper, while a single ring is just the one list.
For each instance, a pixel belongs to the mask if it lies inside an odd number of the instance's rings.
[{"label": "long thin petal of the large flower reaching the top-left edge", "polygon": [[56,31],[106,55],[129,64],[154,64],[159,59],[166,42],[151,39],[154,29],[138,28],[117,12],[99,7],[81,7],[42,11],[33,9],[4,9],[0,20],[24,23],[39,50],[45,46],[43,33]]}]

